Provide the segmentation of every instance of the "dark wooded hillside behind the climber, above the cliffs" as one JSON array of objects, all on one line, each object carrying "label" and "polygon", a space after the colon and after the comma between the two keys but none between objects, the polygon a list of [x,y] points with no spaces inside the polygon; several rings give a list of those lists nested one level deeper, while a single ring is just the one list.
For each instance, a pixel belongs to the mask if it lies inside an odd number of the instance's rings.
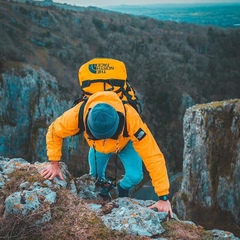
[{"label": "dark wooded hillside behind the climber, above the cliffs", "polygon": [[81,95],[82,64],[94,57],[123,61],[172,172],[182,170],[186,109],[240,97],[239,28],[3,0],[0,19],[0,73],[20,63],[43,68],[69,101]]}]

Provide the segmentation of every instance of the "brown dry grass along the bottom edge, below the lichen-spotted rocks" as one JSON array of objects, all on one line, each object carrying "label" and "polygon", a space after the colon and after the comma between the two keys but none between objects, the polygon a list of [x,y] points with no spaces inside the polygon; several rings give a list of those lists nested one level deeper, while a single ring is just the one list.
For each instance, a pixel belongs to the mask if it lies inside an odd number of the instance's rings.
[{"label": "brown dry grass along the bottom edge, below the lichen-spotted rocks", "polygon": [[85,202],[67,190],[58,191],[57,203],[52,207],[52,220],[48,223],[35,225],[44,212],[39,211],[26,216],[11,215],[0,219],[0,239],[148,239],[135,237],[125,232],[112,231],[102,220],[89,209]]}]

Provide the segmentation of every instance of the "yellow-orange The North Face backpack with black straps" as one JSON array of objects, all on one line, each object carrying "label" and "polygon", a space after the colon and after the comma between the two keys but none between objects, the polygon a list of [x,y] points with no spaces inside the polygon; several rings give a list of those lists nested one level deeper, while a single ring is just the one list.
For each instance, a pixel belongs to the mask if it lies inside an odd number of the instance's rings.
[{"label": "yellow-orange The North Face backpack with black straps", "polygon": [[79,111],[80,129],[83,129],[86,101],[99,91],[113,91],[124,104],[130,104],[139,114],[142,112],[141,103],[127,80],[127,70],[123,62],[111,58],[94,58],[80,67],[78,78],[83,95],[74,101],[73,106],[84,101]]}]

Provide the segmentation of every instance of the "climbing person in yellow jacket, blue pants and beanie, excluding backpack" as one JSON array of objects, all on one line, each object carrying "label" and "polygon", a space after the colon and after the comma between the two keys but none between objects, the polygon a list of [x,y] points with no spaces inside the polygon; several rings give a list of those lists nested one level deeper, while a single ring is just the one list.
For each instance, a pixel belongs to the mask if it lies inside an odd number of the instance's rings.
[{"label": "climbing person in yellow jacket, blue pants and beanie, excluding backpack", "polygon": [[[83,130],[79,128],[78,119],[83,103],[79,102],[50,125],[46,135],[50,164],[41,172],[45,179],[52,180],[58,176],[63,180],[59,167],[62,141]],[[143,178],[143,162],[159,196],[159,201],[149,208],[168,212],[173,217],[164,156],[149,128],[130,104],[124,104],[113,91],[94,93],[84,106],[83,128],[84,137],[90,146],[90,175],[105,179],[109,158],[117,154],[125,169],[125,175],[117,184],[119,197],[128,197],[129,190]]]}]

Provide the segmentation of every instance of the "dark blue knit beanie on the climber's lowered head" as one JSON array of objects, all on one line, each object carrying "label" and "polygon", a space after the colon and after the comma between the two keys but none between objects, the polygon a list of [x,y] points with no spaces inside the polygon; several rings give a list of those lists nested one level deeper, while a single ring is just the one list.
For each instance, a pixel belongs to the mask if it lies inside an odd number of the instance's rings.
[{"label": "dark blue knit beanie on the climber's lowered head", "polygon": [[119,116],[109,104],[98,103],[88,114],[87,125],[92,135],[97,139],[107,139],[118,129]]}]

